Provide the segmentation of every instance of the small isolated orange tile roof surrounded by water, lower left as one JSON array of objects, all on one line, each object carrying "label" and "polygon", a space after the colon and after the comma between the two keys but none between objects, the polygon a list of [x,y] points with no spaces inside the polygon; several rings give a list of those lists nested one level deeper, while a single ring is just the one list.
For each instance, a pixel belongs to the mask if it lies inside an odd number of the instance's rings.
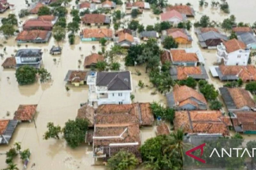
[{"label": "small isolated orange tile roof surrounded by water, lower left", "polygon": [[14,113],[14,120],[31,121],[36,114],[37,105],[20,105]]}]

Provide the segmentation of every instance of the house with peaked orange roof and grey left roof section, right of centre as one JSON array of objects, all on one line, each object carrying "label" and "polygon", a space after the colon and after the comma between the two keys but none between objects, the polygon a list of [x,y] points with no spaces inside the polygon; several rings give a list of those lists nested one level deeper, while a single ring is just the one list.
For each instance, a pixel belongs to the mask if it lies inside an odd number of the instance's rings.
[{"label": "house with peaked orange roof and grey left roof section, right of centre", "polygon": [[166,94],[170,108],[176,110],[206,110],[207,102],[204,95],[186,85],[175,85],[173,91]]}]

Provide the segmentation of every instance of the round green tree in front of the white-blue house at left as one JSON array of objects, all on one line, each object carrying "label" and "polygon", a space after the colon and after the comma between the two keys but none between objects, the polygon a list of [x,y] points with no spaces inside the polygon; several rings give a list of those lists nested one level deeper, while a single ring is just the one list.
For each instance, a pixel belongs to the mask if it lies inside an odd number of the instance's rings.
[{"label": "round green tree in front of the white-blue house at left", "polygon": [[28,85],[36,81],[37,70],[29,65],[24,65],[16,69],[15,76],[19,85]]}]

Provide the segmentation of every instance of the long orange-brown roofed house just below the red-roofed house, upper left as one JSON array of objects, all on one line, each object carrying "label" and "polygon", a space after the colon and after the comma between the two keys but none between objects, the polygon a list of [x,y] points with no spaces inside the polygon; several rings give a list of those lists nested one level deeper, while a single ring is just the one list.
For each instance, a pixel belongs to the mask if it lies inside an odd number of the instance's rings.
[{"label": "long orange-brown roofed house just below the red-roofed house, upper left", "polygon": [[33,43],[46,43],[49,41],[52,35],[51,31],[46,30],[29,30],[22,31],[16,37],[16,41],[19,43],[33,42]]}]

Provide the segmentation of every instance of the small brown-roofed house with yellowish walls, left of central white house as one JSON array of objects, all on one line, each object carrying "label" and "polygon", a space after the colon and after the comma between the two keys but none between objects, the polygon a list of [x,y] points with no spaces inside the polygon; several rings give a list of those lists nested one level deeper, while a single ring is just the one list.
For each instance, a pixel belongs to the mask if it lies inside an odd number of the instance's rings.
[{"label": "small brown-roofed house with yellowish walls, left of central white house", "polygon": [[76,87],[80,85],[86,85],[86,80],[90,71],[83,70],[68,70],[68,73],[64,79],[68,84],[74,85]]}]

